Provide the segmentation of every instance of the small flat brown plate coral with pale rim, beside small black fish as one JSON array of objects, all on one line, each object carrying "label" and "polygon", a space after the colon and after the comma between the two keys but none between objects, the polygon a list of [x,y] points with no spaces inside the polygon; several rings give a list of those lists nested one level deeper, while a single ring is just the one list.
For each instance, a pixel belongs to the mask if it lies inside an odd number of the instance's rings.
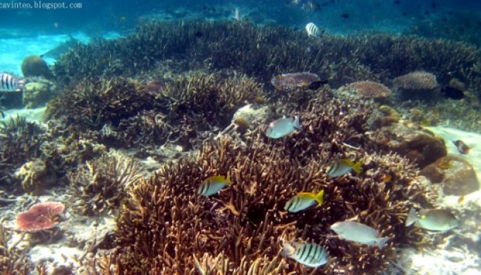
[{"label": "small flat brown plate coral with pale rim, beside small black fish", "polygon": [[[321,83],[317,83],[317,81],[321,81]],[[320,86],[322,83],[325,84],[327,82],[326,80],[321,80],[317,74],[309,72],[280,74],[271,79],[271,84],[278,91],[294,91],[298,88],[310,89],[311,85],[315,87],[316,85]]]}]

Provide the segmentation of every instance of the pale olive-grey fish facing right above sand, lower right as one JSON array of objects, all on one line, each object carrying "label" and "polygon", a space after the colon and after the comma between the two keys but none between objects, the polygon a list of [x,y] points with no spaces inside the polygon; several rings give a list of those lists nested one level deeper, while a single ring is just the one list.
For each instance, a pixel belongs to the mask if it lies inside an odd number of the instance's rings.
[{"label": "pale olive-grey fish facing right above sand, lower right", "polygon": [[419,211],[411,208],[406,219],[406,226],[412,225],[418,228],[432,231],[447,231],[458,226],[458,220],[449,210],[444,209],[423,209]]}]

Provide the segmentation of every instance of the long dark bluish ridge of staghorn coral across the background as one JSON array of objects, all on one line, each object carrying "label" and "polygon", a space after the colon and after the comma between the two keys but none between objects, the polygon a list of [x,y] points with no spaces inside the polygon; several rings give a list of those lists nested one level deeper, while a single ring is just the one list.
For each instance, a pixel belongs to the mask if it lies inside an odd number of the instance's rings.
[{"label": "long dark bluish ridge of staghorn coral across the background", "polygon": [[[194,34],[203,34],[199,39]],[[275,74],[322,73],[335,85],[382,80],[416,70],[436,72],[440,83],[452,77],[469,86],[479,83],[476,47],[418,36],[367,33],[305,38],[304,31],[258,27],[246,21],[150,22],[118,41],[78,45],[56,63],[63,82],[98,76],[132,76],[155,68],[159,61],[185,58],[205,61],[215,69],[237,69],[269,83]],[[474,86],[474,85],[473,85]]]}]

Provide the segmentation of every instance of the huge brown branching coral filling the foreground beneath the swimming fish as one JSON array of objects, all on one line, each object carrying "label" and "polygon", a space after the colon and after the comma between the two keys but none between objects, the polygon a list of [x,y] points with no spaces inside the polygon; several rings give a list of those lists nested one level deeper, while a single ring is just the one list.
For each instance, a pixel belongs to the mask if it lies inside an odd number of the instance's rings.
[{"label": "huge brown branching coral filling the foreground beneath the swimming fish", "polygon": [[[117,272],[194,274],[196,261],[201,266],[223,263],[219,268],[210,265],[214,274],[311,272],[279,258],[283,238],[326,246],[331,254],[326,274],[382,269],[402,240],[405,203],[416,192],[423,194],[415,187],[412,166],[395,155],[373,155],[359,177],[330,179],[322,164],[301,166],[262,144],[257,138],[241,147],[223,137],[205,144],[197,159],[166,164],[150,179],[134,184],[118,223]],[[392,173],[387,183],[380,176],[386,170]],[[197,195],[203,179],[227,173],[232,186],[213,197]],[[284,211],[295,193],[320,189],[326,194],[322,206],[299,214]],[[326,238],[332,223],[356,214],[392,242],[379,250]]]}]

